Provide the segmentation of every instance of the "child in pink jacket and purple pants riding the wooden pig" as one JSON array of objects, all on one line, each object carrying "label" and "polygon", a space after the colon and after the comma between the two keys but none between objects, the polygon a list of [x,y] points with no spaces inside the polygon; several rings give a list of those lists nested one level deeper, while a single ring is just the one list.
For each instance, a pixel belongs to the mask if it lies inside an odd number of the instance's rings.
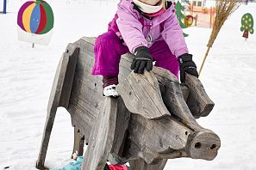
[{"label": "child in pink jacket and purple pants riding the wooden pig", "polygon": [[97,37],[92,75],[103,76],[103,95],[117,96],[119,62],[131,52],[131,69],[142,74],[155,66],[170,70],[184,82],[185,73],[197,76],[184,35],[169,0],[121,0],[107,33]]}]

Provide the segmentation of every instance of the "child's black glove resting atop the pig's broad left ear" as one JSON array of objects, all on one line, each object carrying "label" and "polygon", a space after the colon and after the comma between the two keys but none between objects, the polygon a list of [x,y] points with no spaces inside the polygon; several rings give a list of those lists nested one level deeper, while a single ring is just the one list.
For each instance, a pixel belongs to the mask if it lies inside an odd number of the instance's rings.
[{"label": "child's black glove resting atop the pig's broad left ear", "polygon": [[149,49],[147,48],[147,46],[139,46],[138,48],[136,48],[134,55],[135,58],[133,60],[133,63],[131,64],[131,70],[134,70],[134,73],[142,74],[145,68],[147,71],[152,70],[152,56],[149,53]]}]

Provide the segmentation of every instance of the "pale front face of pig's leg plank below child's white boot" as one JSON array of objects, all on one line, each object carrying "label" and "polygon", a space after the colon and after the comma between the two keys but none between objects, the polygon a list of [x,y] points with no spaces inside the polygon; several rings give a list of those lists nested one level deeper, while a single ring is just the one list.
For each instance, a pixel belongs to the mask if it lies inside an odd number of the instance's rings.
[{"label": "pale front face of pig's leg plank below child's white boot", "polygon": [[100,170],[105,167],[114,141],[117,100],[107,97],[91,131],[90,142],[84,154],[83,170]]}]

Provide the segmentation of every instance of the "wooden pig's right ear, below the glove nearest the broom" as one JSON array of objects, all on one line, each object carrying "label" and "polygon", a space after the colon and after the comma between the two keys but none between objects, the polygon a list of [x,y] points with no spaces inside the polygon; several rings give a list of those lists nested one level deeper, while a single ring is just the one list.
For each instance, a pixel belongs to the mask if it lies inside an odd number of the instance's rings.
[{"label": "wooden pig's right ear, below the glove nearest the broom", "polygon": [[196,77],[186,74],[185,83],[190,88],[188,106],[195,118],[206,117],[212,111],[215,103],[209,99],[202,82]]}]

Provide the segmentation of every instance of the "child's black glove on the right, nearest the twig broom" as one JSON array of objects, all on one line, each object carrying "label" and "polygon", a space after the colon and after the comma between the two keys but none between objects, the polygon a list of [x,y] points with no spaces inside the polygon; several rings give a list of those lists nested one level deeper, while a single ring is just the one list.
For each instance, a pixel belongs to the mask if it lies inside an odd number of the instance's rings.
[{"label": "child's black glove on the right, nearest the twig broom", "polygon": [[197,65],[192,60],[191,54],[183,54],[178,57],[179,63],[179,74],[180,74],[180,82],[184,82],[185,73],[189,73],[190,75],[197,76]]}]

